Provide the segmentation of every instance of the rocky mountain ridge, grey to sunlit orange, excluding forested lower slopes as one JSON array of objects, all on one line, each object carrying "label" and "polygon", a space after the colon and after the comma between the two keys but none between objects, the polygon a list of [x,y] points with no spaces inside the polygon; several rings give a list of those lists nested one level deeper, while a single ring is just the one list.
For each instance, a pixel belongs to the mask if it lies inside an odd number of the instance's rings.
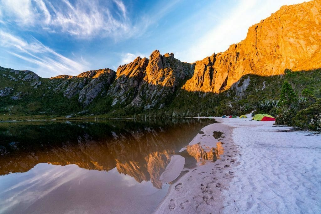
[{"label": "rocky mountain ridge, grey to sunlit orange, excluding forested lower slopes", "polygon": [[149,59],[138,56],[119,66],[117,72],[105,68],[44,79],[30,71],[1,67],[0,101],[10,97],[6,103],[14,105],[12,100],[38,93],[38,99],[76,99],[82,108],[104,100],[101,106],[107,109],[160,109],[182,91],[205,95],[231,88],[242,96],[251,79],[243,84],[240,79],[247,74],[273,76],[283,74],[285,69],[320,68],[320,23],[321,0],[313,0],[282,6],[251,26],[243,41],[195,63],[181,62],[173,53],[161,55],[155,50]]}]

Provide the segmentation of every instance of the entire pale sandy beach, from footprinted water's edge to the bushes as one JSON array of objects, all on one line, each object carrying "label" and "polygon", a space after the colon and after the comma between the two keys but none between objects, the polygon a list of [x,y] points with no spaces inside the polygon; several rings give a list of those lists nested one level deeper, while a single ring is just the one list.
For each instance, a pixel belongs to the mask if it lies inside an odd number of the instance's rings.
[{"label": "entire pale sandy beach, from footprinted water's edge to the bushes", "polygon": [[221,123],[204,127],[189,145],[209,150],[220,141],[224,153],[183,169],[155,213],[321,213],[320,135],[250,118],[215,119]]}]

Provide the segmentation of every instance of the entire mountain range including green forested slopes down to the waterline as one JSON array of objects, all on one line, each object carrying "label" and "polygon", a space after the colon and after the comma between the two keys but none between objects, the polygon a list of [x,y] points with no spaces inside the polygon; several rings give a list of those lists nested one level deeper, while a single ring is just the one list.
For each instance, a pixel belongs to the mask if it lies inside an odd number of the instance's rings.
[{"label": "entire mountain range including green forested slopes down to the waterline", "polygon": [[321,1],[315,0],[282,6],[251,26],[243,41],[195,63],[155,50],[149,59],[137,57],[117,72],[105,68],[46,79],[0,67],[0,118],[268,113],[277,107],[285,80],[299,97],[308,89],[317,102],[320,24]]}]

